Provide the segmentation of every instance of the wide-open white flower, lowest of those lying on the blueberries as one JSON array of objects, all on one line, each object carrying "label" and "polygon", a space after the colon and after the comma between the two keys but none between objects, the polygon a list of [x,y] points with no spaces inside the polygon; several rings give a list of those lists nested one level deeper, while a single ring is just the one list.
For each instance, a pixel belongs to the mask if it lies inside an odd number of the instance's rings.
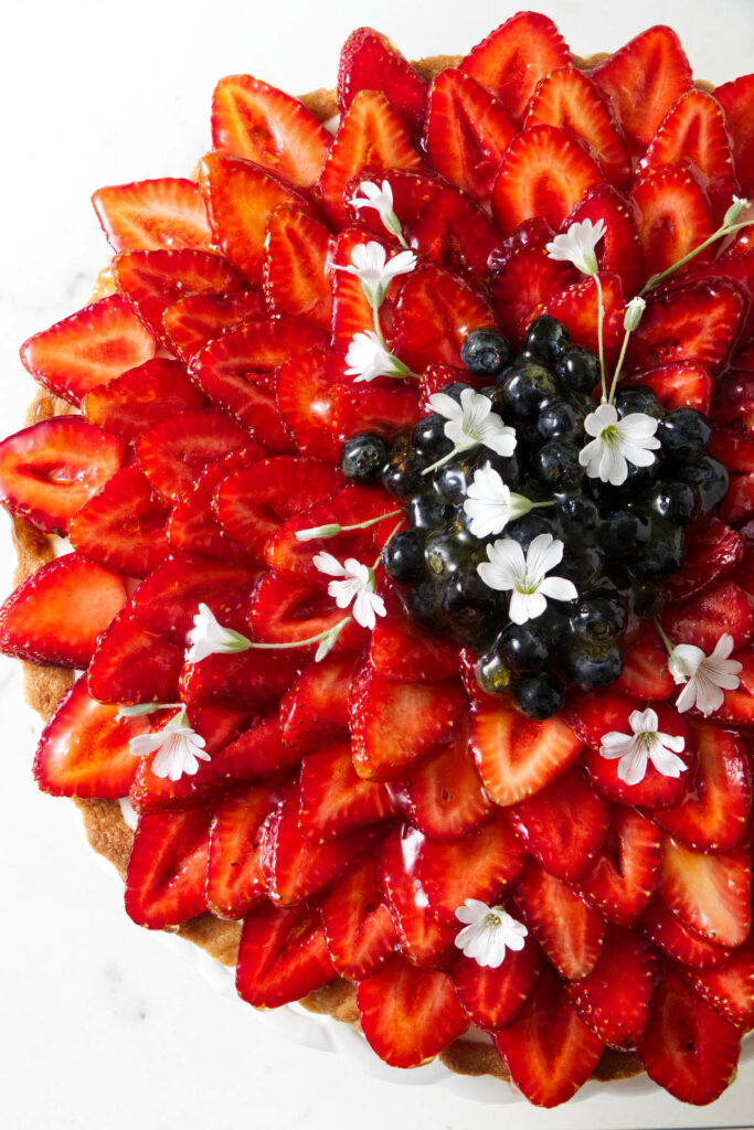
[{"label": "wide-open white flower, lowest of those lying on the blueberries", "polygon": [[486,585],[501,592],[511,590],[509,616],[514,624],[534,620],[553,600],[575,600],[575,585],[562,576],[546,576],[563,559],[563,542],[552,533],[539,533],[527,549],[526,558],[518,541],[500,538],[487,546],[488,562],[477,565]]}]

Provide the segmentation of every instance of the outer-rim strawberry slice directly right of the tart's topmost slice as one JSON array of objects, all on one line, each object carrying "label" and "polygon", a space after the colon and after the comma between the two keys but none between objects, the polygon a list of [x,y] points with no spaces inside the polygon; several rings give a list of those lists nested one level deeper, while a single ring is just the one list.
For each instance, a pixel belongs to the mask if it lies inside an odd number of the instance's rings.
[{"label": "outer-rim strawberry slice directly right of the tart's topmost slice", "polygon": [[591,77],[633,151],[649,145],[670,106],[692,85],[681,41],[662,25],[648,28],[598,63]]}]

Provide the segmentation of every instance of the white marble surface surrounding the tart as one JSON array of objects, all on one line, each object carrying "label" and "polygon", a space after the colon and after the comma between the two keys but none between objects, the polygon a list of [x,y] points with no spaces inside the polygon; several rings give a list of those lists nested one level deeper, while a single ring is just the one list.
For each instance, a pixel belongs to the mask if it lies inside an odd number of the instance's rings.
[{"label": "white marble surface surrounding the tart", "polygon": [[[682,34],[697,75],[751,69],[752,0],[549,0],[581,53],[613,49],[658,19]],[[88,205],[102,184],[180,175],[208,145],[222,75],[291,90],[333,81],[358,24],[407,54],[466,50],[515,10],[483,0],[26,0],[0,43],[0,432],[19,426],[31,383],[16,349],[79,306],[106,257]],[[0,515],[0,594],[10,589]],[[467,1130],[752,1123],[754,1064],[713,1107],[666,1095],[592,1095],[556,1112],[471,1102],[448,1086],[397,1086],[358,1063],[291,1044],[271,1018],[226,999],[164,941],[132,925],[112,873],[85,849],[71,806],[31,776],[34,720],[0,659],[0,1124],[8,1130]],[[409,1079],[418,1081],[421,1074]]]}]

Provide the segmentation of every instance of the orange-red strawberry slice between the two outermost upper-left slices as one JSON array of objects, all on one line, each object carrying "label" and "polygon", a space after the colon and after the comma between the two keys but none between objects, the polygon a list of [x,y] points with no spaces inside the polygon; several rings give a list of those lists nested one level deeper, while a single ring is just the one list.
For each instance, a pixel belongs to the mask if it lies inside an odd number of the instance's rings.
[{"label": "orange-red strawberry slice between the two outermost upper-left slices", "polygon": [[240,157],[209,153],[199,165],[213,240],[250,282],[261,281],[267,223],[275,208],[305,208],[291,184]]}]

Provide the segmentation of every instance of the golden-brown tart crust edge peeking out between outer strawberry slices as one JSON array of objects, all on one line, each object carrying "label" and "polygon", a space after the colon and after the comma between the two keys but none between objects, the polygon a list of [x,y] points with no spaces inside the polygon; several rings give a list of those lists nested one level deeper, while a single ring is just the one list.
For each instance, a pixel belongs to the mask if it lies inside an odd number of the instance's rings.
[{"label": "golden-brown tart crust edge peeking out between outer strawberry slices", "polygon": [[[572,58],[577,67],[586,70],[597,66],[598,62],[607,58],[607,52],[603,52],[586,59],[578,55]],[[431,81],[447,68],[458,67],[462,58],[462,55],[431,55],[414,61],[414,66],[424,78]],[[695,85],[701,89],[712,89],[711,84],[708,82],[697,81]],[[301,101],[322,122],[338,113],[335,90],[322,87],[302,96]],[[112,294],[113,289],[110,272],[105,269],[97,278],[90,301],[94,302],[106,294]],[[47,419],[51,416],[71,415],[75,411],[76,409],[68,401],[41,389],[29,406],[26,425],[35,424],[37,420]],[[19,584],[51,560],[55,554],[52,539],[23,518],[12,518],[12,537],[18,555],[15,581],[16,584]],[[23,666],[26,701],[46,722],[54,713],[60,698],[72,686],[73,672],[63,667],[43,667],[28,662],[24,662]],[[112,863],[124,880],[133,833],[123,819],[120,805],[114,800],[75,799],[73,802],[81,812],[90,846]],[[226,921],[206,913],[177,928],[168,928],[166,932],[176,933],[192,941],[211,957],[222,962],[223,965],[232,966],[236,963],[241,939],[240,922]],[[357,1031],[359,1029],[355,988],[349,981],[336,979],[310,993],[300,1003],[310,1012],[329,1016],[340,1023],[349,1024]],[[449,1070],[457,1075],[491,1075],[505,1083],[511,1081],[505,1063],[489,1044],[477,1043],[461,1036],[449,1044],[439,1058]],[[607,1083],[630,1079],[642,1071],[643,1067],[635,1055],[606,1048],[595,1068],[592,1078]]]}]

